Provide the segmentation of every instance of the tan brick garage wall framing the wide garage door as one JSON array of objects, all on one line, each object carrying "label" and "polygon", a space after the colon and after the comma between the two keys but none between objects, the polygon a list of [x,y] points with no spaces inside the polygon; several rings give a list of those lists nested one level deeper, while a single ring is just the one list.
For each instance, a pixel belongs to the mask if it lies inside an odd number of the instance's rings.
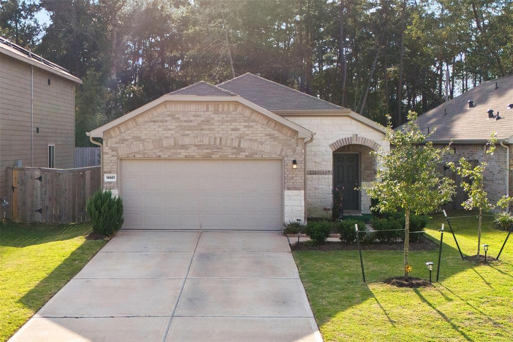
[{"label": "tan brick garage wall framing the wide garage door", "polygon": [[[242,104],[160,104],[107,130],[103,152],[103,172],[118,175],[120,158],[284,159],[285,219],[304,219],[304,139]],[[117,182],[104,188],[117,191]]]}]

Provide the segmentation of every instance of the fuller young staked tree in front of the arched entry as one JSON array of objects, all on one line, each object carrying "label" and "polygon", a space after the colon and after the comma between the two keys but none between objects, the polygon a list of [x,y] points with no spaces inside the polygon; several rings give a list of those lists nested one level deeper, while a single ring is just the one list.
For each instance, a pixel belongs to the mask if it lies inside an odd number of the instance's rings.
[{"label": "fuller young staked tree in front of the arched entry", "polygon": [[377,153],[382,167],[378,169],[376,181],[366,188],[371,198],[378,200],[374,207],[380,212],[397,211],[402,208],[405,213],[404,231],[404,276],[408,278],[409,223],[410,213],[426,214],[435,211],[447,202],[455,193],[453,180],[438,172],[442,157],[449,153],[445,148],[433,147],[427,141],[417,124],[417,113],[408,113],[408,124],[404,129],[392,130],[391,118],[386,138],[393,146],[388,154]]}]

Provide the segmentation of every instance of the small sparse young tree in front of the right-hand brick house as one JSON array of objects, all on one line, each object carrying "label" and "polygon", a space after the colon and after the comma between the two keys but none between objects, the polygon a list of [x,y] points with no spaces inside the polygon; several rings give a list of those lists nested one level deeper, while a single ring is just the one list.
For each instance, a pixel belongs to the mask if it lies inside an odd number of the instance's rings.
[{"label": "small sparse young tree in front of the right-hand brick house", "polygon": [[[479,220],[478,220],[478,258],[481,252],[481,221],[483,219],[483,211],[490,210],[495,207],[494,204],[490,203],[488,200],[488,194],[484,189],[484,173],[486,172],[486,167],[488,166],[488,158],[492,156],[495,152],[497,144],[497,137],[495,133],[491,134],[490,140],[484,146],[483,149],[483,159],[479,165],[472,167],[470,162],[468,162],[465,158],[461,158],[459,160],[459,165],[457,166],[455,163],[448,163],[451,170],[458,173],[458,175],[462,176],[465,180],[461,182],[461,186],[463,187],[463,191],[467,194],[468,199],[461,203],[461,205],[466,210],[479,210]],[[507,202],[507,199],[499,200],[498,205]]]}]

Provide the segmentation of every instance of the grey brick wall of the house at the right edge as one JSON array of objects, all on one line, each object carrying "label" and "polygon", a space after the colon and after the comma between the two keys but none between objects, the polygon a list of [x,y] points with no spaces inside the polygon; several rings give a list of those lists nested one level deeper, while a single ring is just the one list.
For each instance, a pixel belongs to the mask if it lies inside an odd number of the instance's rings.
[{"label": "grey brick wall of the house at the right edge", "polygon": [[[435,144],[436,147],[446,145]],[[453,153],[444,157],[444,162],[457,163],[460,158],[467,160],[483,161],[484,144],[452,144]],[[511,146],[510,146],[511,148]],[[513,165],[513,159],[510,150],[510,167]],[[484,175],[485,191],[488,193],[488,199],[491,203],[496,204],[499,198],[506,195],[506,149],[497,145],[494,155],[488,155],[488,166]],[[509,176],[509,194],[513,194],[511,181],[511,173]],[[463,207],[462,207],[463,209]],[[495,211],[499,209],[496,208]]]}]

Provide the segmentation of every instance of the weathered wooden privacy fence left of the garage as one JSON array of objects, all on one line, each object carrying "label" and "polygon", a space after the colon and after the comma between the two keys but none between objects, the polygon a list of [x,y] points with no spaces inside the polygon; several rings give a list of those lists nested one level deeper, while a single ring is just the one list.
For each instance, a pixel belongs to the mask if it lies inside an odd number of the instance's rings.
[{"label": "weathered wooden privacy fence left of the garage", "polygon": [[102,184],[100,166],[8,167],[7,176],[9,218],[23,222],[87,221],[86,202]]}]

